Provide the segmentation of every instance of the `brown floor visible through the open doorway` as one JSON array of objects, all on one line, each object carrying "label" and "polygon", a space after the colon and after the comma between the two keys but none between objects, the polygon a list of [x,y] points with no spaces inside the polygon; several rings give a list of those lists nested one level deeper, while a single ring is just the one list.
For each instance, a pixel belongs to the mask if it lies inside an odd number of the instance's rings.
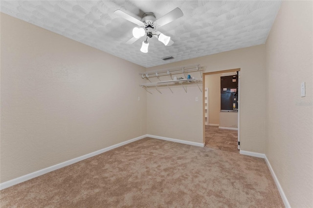
[{"label": "brown floor visible through the open doorway", "polygon": [[205,146],[239,153],[236,130],[219,129],[219,126],[205,125]]}]

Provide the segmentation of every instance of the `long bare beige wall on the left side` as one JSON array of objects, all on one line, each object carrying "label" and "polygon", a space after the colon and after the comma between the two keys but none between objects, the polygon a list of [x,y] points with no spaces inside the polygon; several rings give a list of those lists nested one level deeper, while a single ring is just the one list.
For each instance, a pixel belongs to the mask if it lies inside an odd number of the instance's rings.
[{"label": "long bare beige wall on the left side", "polygon": [[1,13],[1,183],[145,135],[144,70]]}]

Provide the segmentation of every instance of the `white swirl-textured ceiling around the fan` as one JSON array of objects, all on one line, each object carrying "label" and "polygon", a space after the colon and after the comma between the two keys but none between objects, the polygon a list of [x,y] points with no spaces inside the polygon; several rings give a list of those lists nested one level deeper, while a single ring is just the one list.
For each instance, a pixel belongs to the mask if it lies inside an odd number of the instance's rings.
[{"label": "white swirl-textured ceiling around the fan", "polygon": [[[281,1],[238,0],[1,0],[1,12],[82,42],[114,56],[150,67],[263,44]],[[149,52],[140,52],[142,41],[132,38],[134,23],[113,12],[116,9],[141,20],[146,12],[156,19],[179,7],[184,16],[158,29],[171,36],[165,46],[148,39]],[[163,61],[161,58],[173,56]]]}]

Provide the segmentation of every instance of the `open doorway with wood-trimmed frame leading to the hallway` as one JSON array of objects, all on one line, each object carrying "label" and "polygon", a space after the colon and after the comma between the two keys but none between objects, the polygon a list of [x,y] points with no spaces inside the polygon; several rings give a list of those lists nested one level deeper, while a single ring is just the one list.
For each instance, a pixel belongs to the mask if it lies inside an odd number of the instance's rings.
[{"label": "open doorway with wood-trimmed frame leading to the hallway", "polygon": [[[203,73],[202,78],[203,144],[209,148],[239,153],[240,68]],[[222,87],[223,80],[228,78],[235,87]],[[226,92],[229,92],[229,96],[224,94]],[[227,102],[231,102],[230,108],[224,107],[225,97]]]}]

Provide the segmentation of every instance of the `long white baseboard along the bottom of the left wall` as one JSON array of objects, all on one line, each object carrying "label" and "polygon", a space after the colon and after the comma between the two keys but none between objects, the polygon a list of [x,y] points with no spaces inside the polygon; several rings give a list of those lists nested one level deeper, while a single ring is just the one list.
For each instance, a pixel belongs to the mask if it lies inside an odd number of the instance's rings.
[{"label": "long white baseboard along the bottom of the left wall", "polygon": [[44,169],[38,170],[36,172],[29,173],[27,175],[23,175],[23,176],[21,176],[19,178],[15,178],[15,179],[12,179],[10,181],[3,182],[3,183],[0,184],[0,190],[2,190],[4,188],[7,188],[7,187],[11,187],[11,186],[19,184],[19,183],[22,183],[22,182],[27,181],[29,179],[32,179],[32,178],[44,175],[45,173],[51,172],[51,171],[59,169],[61,167],[69,166],[71,164],[74,164],[74,163],[77,163],[79,161],[85,160],[85,159],[87,159],[89,157],[93,157],[93,156],[96,156],[98,154],[101,154],[103,152],[107,152],[107,151],[109,151],[111,149],[114,149],[116,147],[127,145],[129,143],[132,143],[134,141],[143,139],[145,137],[147,137],[147,136],[143,135],[143,136],[140,136],[140,137],[136,137],[134,139],[130,139],[130,140],[127,140],[125,142],[121,142],[121,143],[116,144],[116,145],[108,146],[106,148],[103,148],[103,149],[91,152],[89,154],[86,154],[86,155],[83,155],[83,156],[80,156],[80,157],[68,160],[66,162],[63,162],[63,163],[60,163],[60,164],[57,164],[57,165],[54,165],[54,166],[46,167]]}]

